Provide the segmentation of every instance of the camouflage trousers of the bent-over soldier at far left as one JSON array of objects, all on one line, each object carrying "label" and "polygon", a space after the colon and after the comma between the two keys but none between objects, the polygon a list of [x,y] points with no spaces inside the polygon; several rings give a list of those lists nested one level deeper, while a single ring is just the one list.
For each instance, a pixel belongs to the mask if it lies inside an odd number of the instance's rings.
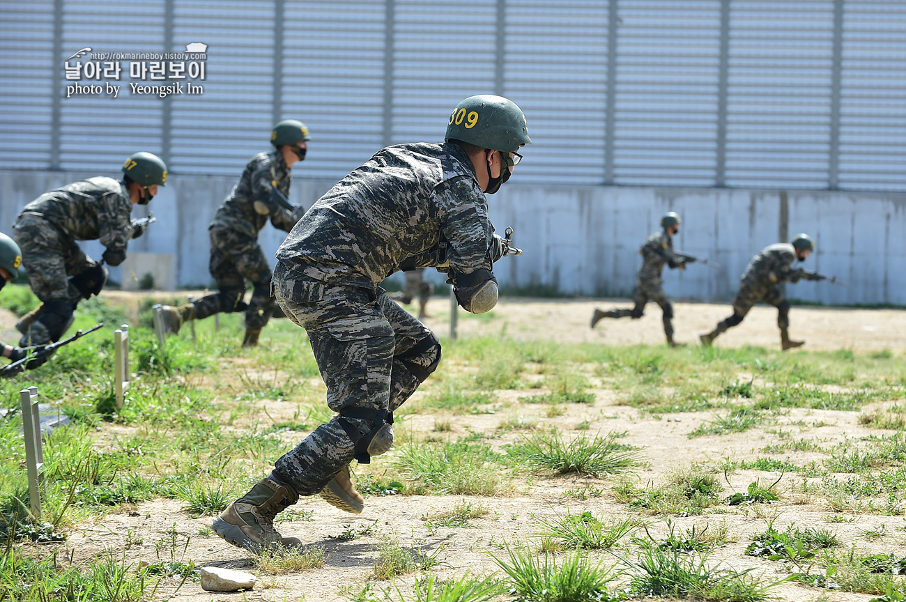
[{"label": "camouflage trousers of the bent-over soldier at far left", "polygon": [[43,302],[77,303],[82,292],[69,280],[97,265],[75,239],[64,234],[40,215],[25,214],[13,226],[13,238],[22,249],[22,264],[28,283]]}]

